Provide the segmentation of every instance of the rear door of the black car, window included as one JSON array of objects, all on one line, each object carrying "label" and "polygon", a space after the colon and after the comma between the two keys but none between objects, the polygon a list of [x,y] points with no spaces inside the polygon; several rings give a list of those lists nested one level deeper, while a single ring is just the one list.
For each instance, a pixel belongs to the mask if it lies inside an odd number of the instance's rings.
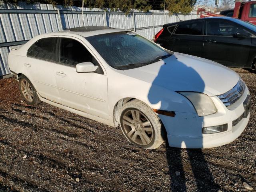
[{"label": "rear door of the black car, window included", "polygon": [[170,50],[194,56],[202,56],[203,20],[181,22],[171,34]]}]

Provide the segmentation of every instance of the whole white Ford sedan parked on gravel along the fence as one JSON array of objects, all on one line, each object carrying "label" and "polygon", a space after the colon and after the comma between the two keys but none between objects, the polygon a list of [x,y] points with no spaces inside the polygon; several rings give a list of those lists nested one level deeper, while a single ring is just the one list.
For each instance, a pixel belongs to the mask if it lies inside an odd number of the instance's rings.
[{"label": "whole white Ford sedan parked on gravel along the fence", "polygon": [[117,127],[155,149],[228,144],[246,128],[250,93],[234,71],[171,52],[123,29],[42,34],[12,48],[8,64],[24,100]]}]

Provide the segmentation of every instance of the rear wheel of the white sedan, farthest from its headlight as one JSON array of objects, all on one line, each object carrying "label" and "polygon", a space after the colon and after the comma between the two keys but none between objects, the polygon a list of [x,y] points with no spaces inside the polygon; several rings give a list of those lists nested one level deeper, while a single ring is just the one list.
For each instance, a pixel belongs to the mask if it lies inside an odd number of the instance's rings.
[{"label": "rear wheel of the white sedan, farthest from its headlight", "polygon": [[20,76],[19,78],[19,89],[20,89],[22,98],[25,100],[27,104],[37,105],[38,103],[41,102],[33,84],[24,75]]}]

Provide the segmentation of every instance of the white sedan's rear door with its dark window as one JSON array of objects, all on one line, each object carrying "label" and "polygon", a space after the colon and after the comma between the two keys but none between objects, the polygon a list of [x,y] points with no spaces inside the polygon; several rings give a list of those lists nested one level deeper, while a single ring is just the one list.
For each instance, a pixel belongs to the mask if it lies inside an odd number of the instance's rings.
[{"label": "white sedan's rear door with its dark window", "polygon": [[54,74],[56,43],[57,37],[37,40],[28,49],[23,65],[38,94],[47,100],[60,103]]}]

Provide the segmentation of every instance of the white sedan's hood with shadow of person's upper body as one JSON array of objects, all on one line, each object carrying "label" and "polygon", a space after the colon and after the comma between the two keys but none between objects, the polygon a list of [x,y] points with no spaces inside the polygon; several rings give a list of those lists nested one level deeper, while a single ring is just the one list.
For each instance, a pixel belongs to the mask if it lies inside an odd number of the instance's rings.
[{"label": "white sedan's hood with shadow of person's upper body", "polygon": [[227,92],[239,80],[236,72],[221,64],[176,52],[156,63],[124,70],[124,74],[168,90],[202,92],[208,96]]}]

